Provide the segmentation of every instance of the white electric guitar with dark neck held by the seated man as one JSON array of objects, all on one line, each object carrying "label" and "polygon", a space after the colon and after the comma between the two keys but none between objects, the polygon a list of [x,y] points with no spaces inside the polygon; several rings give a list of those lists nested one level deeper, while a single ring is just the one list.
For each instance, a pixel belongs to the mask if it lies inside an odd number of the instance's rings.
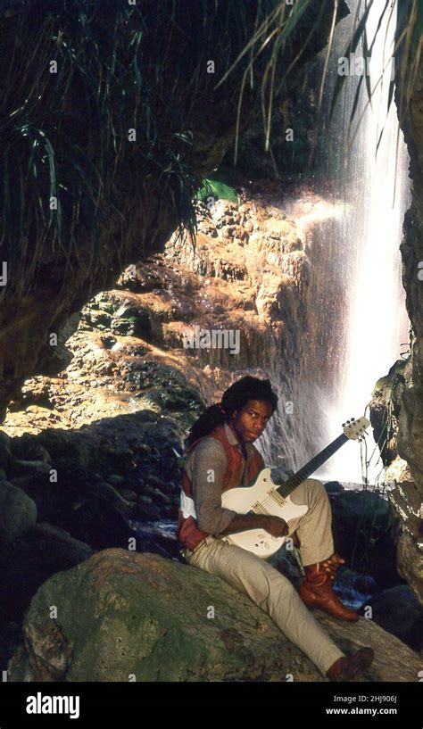
[{"label": "white electric guitar with dark neck held by the seated man", "polygon": [[[232,509],[238,514],[271,514],[274,517],[289,521],[303,517],[307,506],[298,506],[291,501],[289,494],[305,481],[306,478],[325,463],[344,443],[350,440],[361,440],[370,422],[367,418],[347,420],[343,435],[323,449],[317,456],[300,468],[294,476],[284,484],[277,486],[270,477],[270,468],[263,468],[252,485],[228,489],[222,493],[222,506]],[[265,529],[248,529],[246,532],[227,534],[220,539],[228,544],[236,544],[244,550],[252,551],[258,557],[270,557],[278,551],[286,541],[286,536],[272,536]]]}]

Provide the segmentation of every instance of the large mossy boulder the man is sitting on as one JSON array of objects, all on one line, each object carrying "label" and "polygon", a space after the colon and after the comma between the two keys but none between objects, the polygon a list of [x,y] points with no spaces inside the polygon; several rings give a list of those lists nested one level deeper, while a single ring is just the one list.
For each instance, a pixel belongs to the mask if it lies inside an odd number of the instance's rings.
[{"label": "large mossy boulder the man is sitting on", "polygon": [[[418,680],[418,656],[371,620],[316,617],[342,650],[375,648],[369,680]],[[23,634],[12,682],[326,680],[245,594],[149,553],[104,550],[54,575],[31,601]]]}]

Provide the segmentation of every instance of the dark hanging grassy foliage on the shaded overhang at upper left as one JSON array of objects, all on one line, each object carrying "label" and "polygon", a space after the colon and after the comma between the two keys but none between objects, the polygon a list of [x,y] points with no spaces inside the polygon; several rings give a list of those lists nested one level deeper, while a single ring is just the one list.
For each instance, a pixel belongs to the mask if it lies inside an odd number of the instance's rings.
[{"label": "dark hanging grassy foliage on the shaded overhang at upper left", "polygon": [[[21,293],[35,284],[40,260],[54,265],[64,258],[71,275],[80,268],[81,250],[94,272],[108,249],[119,258],[134,239],[142,249],[134,197],[148,196],[154,186],[179,228],[195,231],[197,180],[187,162],[192,133],[184,110],[172,113],[170,99],[162,123],[154,87],[161,63],[152,72],[148,48],[159,27],[147,33],[142,10],[120,0],[103,7],[31,0],[0,28],[4,55],[12,60],[0,70],[0,243],[10,286]],[[135,141],[129,128],[137,130]]]}]

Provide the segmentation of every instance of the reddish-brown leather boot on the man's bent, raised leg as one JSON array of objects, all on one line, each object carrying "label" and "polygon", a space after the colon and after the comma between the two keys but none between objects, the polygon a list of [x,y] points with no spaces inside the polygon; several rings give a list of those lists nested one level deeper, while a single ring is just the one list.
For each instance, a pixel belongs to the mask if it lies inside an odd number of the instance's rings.
[{"label": "reddish-brown leather boot on the man's bent, raised leg", "polygon": [[305,579],[300,585],[299,592],[308,608],[319,608],[339,620],[348,620],[353,623],[359,619],[358,613],[346,608],[332,589],[336,569],[343,562],[344,559],[333,554],[323,562],[316,562],[314,565],[304,567]]}]

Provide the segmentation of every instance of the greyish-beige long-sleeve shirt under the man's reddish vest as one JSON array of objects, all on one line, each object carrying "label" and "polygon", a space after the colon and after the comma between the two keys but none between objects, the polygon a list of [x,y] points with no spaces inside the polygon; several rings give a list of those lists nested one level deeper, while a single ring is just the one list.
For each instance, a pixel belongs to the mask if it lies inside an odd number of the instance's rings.
[{"label": "greyish-beige long-sleeve shirt under the man's reddish vest", "polygon": [[[248,484],[248,465],[258,450],[253,443],[246,443],[245,460],[234,431],[227,424],[224,428],[228,442],[237,445],[243,456],[239,485],[245,486]],[[187,460],[187,476],[193,486],[198,528],[214,536],[224,531],[236,516],[236,511],[224,509],[221,505],[223,476],[227,465],[225,449],[215,438],[204,438],[195,446]]]}]

